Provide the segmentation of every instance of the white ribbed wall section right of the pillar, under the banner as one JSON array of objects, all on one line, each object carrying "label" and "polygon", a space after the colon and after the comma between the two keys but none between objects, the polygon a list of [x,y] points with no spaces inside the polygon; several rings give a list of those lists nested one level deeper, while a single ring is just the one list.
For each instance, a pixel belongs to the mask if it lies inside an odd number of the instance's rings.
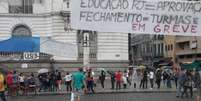
[{"label": "white ribbed wall section right of the pillar, under the banner", "polygon": [[128,34],[98,33],[98,60],[128,60]]}]

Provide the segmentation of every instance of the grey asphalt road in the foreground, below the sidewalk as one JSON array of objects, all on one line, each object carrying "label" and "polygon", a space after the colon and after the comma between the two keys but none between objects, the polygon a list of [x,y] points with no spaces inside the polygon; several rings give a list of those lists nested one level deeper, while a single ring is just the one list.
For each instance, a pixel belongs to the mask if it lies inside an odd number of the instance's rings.
[{"label": "grey asphalt road in the foreground, below the sidewalk", "polygon": [[[70,95],[8,97],[8,101],[70,101]],[[195,98],[176,98],[174,93],[122,93],[84,95],[81,101],[195,101]]]}]

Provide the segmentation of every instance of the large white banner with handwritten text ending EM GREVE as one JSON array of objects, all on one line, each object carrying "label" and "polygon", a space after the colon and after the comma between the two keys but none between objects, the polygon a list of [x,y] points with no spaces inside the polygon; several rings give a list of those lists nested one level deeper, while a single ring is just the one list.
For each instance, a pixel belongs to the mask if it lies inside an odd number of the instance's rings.
[{"label": "large white banner with handwritten text ending EM GREVE", "polygon": [[72,0],[78,30],[201,36],[201,2],[178,0]]}]

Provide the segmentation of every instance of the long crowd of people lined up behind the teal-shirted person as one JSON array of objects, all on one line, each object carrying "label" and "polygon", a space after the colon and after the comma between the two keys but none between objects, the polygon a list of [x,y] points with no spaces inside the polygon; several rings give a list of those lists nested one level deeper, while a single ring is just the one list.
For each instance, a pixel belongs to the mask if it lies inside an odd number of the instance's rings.
[{"label": "long crowd of people lined up behind the teal-shirted person", "polygon": [[[76,72],[60,72],[58,70],[29,75],[10,71],[5,75],[5,80],[1,78],[0,83],[4,84],[4,89],[11,96],[19,94],[27,95],[29,92],[60,92],[62,85],[65,85],[67,92],[73,91],[75,86],[73,80]],[[97,83],[105,89],[105,81],[110,77],[111,89],[120,90],[126,88],[138,89],[160,89],[161,84],[166,88],[177,88],[176,97],[193,97],[193,88],[197,88],[198,99],[201,96],[201,78],[198,71],[181,69],[128,69],[124,71],[100,70],[95,75],[92,69],[87,69],[83,74],[83,86],[85,93],[95,93]],[[98,79],[95,79],[98,76]],[[0,90],[1,90],[0,85]],[[6,89],[7,88],[7,89]],[[2,89],[2,90],[4,90]],[[3,94],[1,94],[2,96]],[[3,95],[4,96],[4,95]],[[3,101],[5,97],[2,97]],[[199,101],[199,100],[198,100]]]}]

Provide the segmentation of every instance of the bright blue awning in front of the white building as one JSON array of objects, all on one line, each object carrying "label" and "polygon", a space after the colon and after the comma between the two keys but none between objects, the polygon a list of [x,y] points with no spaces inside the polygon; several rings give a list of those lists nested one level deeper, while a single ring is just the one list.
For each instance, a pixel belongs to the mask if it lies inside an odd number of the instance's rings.
[{"label": "bright blue awning in front of the white building", "polygon": [[0,41],[0,52],[40,52],[40,38],[11,37]]}]

